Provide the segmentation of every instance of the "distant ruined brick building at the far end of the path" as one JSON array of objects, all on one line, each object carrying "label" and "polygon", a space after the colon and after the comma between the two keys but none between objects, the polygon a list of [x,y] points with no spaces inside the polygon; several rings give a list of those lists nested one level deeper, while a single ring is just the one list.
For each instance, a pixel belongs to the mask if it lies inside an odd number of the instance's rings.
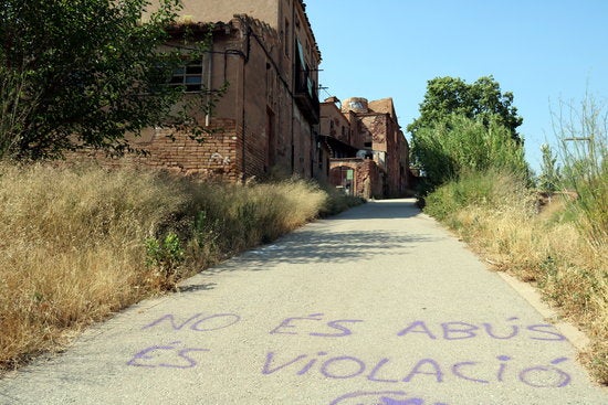
[{"label": "distant ruined brick building at the far end of the path", "polygon": [[400,196],[411,188],[409,147],[391,98],[331,97],[321,104],[319,134],[332,184],[366,198]]}]

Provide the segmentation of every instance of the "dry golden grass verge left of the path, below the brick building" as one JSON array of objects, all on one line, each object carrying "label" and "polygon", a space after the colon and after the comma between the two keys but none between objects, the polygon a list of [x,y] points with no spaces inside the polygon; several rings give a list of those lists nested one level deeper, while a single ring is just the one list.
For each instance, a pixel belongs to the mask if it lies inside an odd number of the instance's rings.
[{"label": "dry golden grass verge left of the path, below the brick building", "polygon": [[303,180],[237,185],[0,163],[0,369],[336,210],[338,200]]}]

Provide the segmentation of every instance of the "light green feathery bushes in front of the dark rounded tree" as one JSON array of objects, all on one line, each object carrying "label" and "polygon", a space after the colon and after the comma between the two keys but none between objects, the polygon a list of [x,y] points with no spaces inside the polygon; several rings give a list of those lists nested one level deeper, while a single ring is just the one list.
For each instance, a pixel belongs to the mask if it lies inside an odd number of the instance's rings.
[{"label": "light green feathery bushes in front of the dark rounded tree", "polygon": [[421,127],[412,149],[426,174],[424,192],[467,172],[504,170],[527,177],[528,167],[521,142],[495,116],[469,118],[451,115]]}]

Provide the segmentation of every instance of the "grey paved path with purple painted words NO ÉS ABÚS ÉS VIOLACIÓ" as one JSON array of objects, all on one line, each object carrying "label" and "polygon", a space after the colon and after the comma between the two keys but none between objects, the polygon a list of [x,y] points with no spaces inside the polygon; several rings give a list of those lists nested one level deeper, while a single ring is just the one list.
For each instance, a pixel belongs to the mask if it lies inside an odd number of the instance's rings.
[{"label": "grey paved path with purple painted words NO \u00c9S AB\u00daS \u00c9S VIOLACI\u00d3", "polygon": [[411,200],[382,201],[88,330],[0,403],[608,404],[575,355]]}]

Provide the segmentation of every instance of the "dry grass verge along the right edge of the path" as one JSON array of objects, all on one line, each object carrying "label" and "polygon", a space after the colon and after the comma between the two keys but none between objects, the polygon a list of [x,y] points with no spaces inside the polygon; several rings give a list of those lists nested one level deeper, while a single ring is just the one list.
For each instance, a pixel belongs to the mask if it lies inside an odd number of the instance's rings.
[{"label": "dry grass verge along the right edge of the path", "polygon": [[[605,182],[602,193],[608,184]],[[596,190],[596,192],[600,192]],[[534,283],[591,344],[581,359],[608,384],[608,207],[585,195],[555,195],[539,207],[537,194],[512,174],[461,177],[426,199],[426,212],[467,241],[496,269]],[[593,217],[585,216],[591,210]]]}]

